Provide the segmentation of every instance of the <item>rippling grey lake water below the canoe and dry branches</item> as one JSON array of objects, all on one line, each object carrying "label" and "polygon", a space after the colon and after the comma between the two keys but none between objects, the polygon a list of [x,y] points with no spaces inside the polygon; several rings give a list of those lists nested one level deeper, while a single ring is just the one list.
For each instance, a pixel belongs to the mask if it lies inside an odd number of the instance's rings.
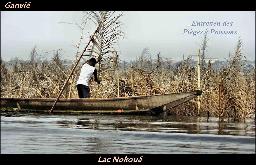
[{"label": "rippling grey lake water below the canoe and dry branches", "polygon": [[255,154],[255,118],[1,113],[5,153]]}]

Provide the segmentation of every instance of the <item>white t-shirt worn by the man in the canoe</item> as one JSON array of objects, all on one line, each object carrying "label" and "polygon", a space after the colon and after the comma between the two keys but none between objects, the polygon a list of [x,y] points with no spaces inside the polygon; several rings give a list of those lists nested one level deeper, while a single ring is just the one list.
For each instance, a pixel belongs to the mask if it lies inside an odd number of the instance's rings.
[{"label": "white t-shirt worn by the man in the canoe", "polygon": [[95,70],[95,67],[88,65],[88,64],[84,64],[82,66],[81,73],[76,82],[76,85],[82,84],[82,85],[89,86],[89,80],[91,79],[91,76],[92,76],[94,70]]}]

